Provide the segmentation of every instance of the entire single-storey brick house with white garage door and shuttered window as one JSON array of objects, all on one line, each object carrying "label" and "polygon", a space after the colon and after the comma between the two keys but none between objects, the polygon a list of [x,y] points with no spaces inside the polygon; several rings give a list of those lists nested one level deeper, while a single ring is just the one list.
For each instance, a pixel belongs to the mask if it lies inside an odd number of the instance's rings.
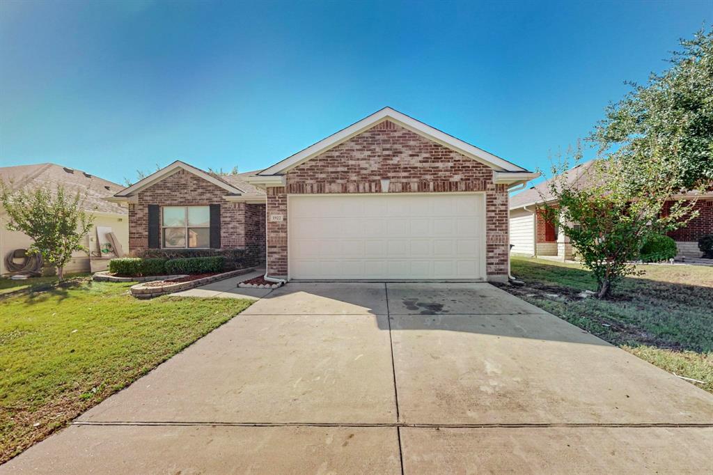
[{"label": "entire single-storey brick house with white garage door and shuttered window", "polygon": [[[303,270],[328,269],[316,274],[329,279],[506,281],[508,188],[536,176],[384,108],[259,173],[216,176],[177,161],[112,199],[129,204],[132,253],[163,245],[161,207],[208,205],[210,247],[255,247],[265,254],[270,277],[311,278],[290,272],[292,224],[307,230],[307,238],[293,237],[303,247],[292,247],[292,258]],[[290,197],[303,203],[307,218],[294,211],[291,223]],[[370,215],[358,215],[369,206]],[[342,207],[347,211],[334,211]],[[392,214],[384,215],[384,207]],[[198,230],[192,235],[195,245]],[[305,239],[312,247],[304,247]]]}]

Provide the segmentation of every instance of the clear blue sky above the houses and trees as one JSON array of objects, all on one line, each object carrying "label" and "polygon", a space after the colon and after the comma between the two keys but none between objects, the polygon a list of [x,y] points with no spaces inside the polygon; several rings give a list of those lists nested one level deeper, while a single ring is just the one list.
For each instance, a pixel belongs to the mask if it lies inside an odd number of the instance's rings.
[{"label": "clear blue sky above the houses and trees", "polygon": [[710,1],[3,1],[0,163],[265,168],[384,106],[548,168]]}]

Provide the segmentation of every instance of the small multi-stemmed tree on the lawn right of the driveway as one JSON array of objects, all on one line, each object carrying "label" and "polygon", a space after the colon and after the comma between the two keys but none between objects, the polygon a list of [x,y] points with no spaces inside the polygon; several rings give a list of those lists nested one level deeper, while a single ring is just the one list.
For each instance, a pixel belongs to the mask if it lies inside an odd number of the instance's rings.
[{"label": "small multi-stemmed tree on the lawn right of the driveway", "polygon": [[[575,162],[581,158],[578,151]],[[605,298],[626,275],[637,273],[632,261],[653,234],[681,227],[694,218],[694,202],[676,202],[662,215],[674,180],[654,160],[632,169],[626,160],[597,160],[578,181],[568,180],[567,160],[553,166],[549,190],[557,205],[545,203],[545,217],[569,237],[584,267],[597,280],[597,297]],[[635,174],[634,174],[635,173]]]}]

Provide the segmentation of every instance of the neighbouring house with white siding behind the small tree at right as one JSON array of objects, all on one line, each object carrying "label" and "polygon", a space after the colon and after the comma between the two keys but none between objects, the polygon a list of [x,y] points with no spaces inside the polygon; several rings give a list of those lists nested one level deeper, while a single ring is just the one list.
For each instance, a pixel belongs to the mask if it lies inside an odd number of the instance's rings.
[{"label": "neighbouring house with white siding behind the small tree at right", "polygon": [[[587,173],[594,160],[582,163],[565,172],[568,183],[585,186]],[[543,203],[556,205],[556,198],[550,193],[549,181],[539,183],[510,198],[510,242],[513,253],[519,255],[556,257],[559,260],[571,259],[574,255],[570,240],[558,228],[545,220]],[[668,233],[678,247],[679,256],[700,257],[698,238],[713,233],[713,193],[690,193],[676,195],[665,203],[664,213],[674,200],[697,198],[695,209],[697,218],[687,223],[684,228]]]}]

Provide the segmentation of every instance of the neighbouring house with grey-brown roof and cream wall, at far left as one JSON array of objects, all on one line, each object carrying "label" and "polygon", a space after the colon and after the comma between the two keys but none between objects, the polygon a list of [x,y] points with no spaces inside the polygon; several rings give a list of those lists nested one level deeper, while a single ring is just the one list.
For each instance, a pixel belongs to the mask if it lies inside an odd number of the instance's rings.
[{"label": "neighbouring house with grey-brown roof and cream wall, at far left", "polygon": [[[106,267],[108,257],[113,257],[113,252],[109,250],[106,242],[104,245],[99,243],[97,226],[111,228],[123,250],[128,249],[128,210],[116,203],[107,203],[103,199],[106,193],[116,193],[123,188],[121,185],[54,163],[1,167],[0,178],[5,183],[11,184],[15,190],[38,187],[56,190],[57,185],[63,185],[71,195],[77,192],[87,193],[84,208],[94,216],[94,227],[83,242],[89,252],[74,252],[71,262],[65,267],[65,272],[101,270]],[[8,216],[0,207],[0,275],[9,272],[5,263],[6,256],[16,249],[26,249],[32,243],[30,237],[24,233],[7,230],[7,222]]]}]

